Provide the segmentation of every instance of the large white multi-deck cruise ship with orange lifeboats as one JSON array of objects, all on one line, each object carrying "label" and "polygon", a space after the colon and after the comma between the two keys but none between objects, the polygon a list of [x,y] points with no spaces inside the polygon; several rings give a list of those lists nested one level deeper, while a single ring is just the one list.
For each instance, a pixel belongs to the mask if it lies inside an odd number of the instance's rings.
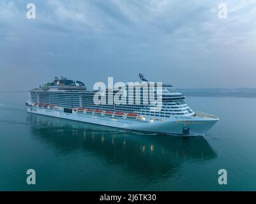
[{"label": "large white multi-deck cruise ship with orange lifeboats", "polygon": [[[214,115],[193,111],[184,102],[185,96],[172,85],[161,84],[157,87],[142,74],[139,77],[141,82],[133,85],[132,89],[129,83],[121,87],[122,96],[128,96],[117,97],[123,103],[98,103],[95,96],[99,91],[88,91],[86,85],[78,80],[55,77],[52,82],[29,91],[27,112],[127,131],[177,136],[204,136],[218,121]],[[139,94],[135,89],[139,90]],[[120,88],[108,87],[99,99],[104,96],[109,102],[118,92]],[[156,99],[159,95],[161,106],[156,108],[157,103],[150,103],[150,97]]]}]

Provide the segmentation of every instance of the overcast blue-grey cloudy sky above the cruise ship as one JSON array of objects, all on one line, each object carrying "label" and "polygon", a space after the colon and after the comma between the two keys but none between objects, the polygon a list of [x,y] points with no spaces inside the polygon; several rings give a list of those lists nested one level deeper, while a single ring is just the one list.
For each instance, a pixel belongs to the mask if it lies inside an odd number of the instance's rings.
[{"label": "overcast blue-grey cloudy sky above the cruise ship", "polygon": [[256,0],[0,0],[0,91],[57,76],[92,89],[138,73],[179,88],[256,88]]}]

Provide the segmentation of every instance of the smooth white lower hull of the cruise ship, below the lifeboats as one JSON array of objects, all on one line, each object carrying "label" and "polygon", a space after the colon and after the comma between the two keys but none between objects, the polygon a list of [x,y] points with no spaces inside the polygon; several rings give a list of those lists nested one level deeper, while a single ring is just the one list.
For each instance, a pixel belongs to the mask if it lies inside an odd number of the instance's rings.
[{"label": "smooth white lower hull of the cruise ship, below the lifeboats", "polygon": [[[77,120],[111,128],[126,129],[128,131],[141,131],[145,133],[159,133],[181,136],[204,136],[205,133],[218,121],[218,118],[207,113],[199,116],[173,116],[163,121],[127,119],[112,117],[96,113],[65,113],[63,110],[27,106],[27,112],[48,115],[61,119]],[[184,129],[188,133],[184,133]]]}]

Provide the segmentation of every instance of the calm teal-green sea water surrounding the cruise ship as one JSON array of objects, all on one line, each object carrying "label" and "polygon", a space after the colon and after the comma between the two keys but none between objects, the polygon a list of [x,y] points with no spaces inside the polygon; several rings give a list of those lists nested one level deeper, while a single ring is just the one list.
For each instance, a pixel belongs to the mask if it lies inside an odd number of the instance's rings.
[{"label": "calm teal-green sea water surrounding the cruise ship", "polygon": [[[190,97],[220,121],[205,138],[146,135],[27,113],[0,93],[0,190],[255,191],[256,99]],[[36,185],[26,171],[36,170]],[[218,184],[225,168],[228,184]]]}]

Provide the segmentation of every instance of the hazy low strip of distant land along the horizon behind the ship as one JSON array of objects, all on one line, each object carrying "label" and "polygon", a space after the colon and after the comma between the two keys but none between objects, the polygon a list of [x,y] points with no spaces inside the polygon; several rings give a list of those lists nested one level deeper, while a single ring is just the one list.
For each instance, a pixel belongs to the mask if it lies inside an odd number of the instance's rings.
[{"label": "hazy low strip of distant land along the horizon behind the ship", "polygon": [[[207,97],[245,97],[256,98],[256,89],[179,89],[177,91],[185,96],[207,96]],[[0,91],[1,92],[28,92],[28,91]]]}]

